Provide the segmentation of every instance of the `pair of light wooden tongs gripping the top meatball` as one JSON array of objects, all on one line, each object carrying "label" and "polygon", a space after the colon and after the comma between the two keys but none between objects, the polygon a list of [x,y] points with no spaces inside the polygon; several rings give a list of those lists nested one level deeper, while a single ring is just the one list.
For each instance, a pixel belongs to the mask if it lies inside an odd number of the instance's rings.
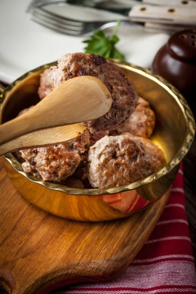
[{"label": "pair of light wooden tongs gripping the top meatball", "polygon": [[[110,92],[98,78],[72,78],[55,88],[25,114],[0,125],[0,155],[71,140],[86,129],[75,123],[103,116],[111,104]],[[54,128],[56,126],[61,127]],[[37,130],[42,131],[35,132]]]}]

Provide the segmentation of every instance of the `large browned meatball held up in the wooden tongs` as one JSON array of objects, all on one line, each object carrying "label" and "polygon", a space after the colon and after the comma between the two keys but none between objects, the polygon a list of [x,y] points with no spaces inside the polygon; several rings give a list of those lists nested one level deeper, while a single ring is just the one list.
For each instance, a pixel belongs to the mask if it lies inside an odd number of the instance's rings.
[{"label": "large browned meatball held up in the wooden tongs", "polygon": [[88,53],[66,54],[58,60],[58,65],[51,69],[53,89],[64,81],[80,75],[95,76],[108,88],[113,102],[111,109],[101,118],[83,123],[92,130],[115,129],[118,125],[126,123],[138,105],[137,93],[132,82],[124,76],[117,65],[104,57]]}]

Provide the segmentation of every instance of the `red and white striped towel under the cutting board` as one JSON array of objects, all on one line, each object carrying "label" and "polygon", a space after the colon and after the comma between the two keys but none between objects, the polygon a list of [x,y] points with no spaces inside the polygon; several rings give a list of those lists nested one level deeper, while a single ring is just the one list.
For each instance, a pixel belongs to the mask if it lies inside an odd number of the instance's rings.
[{"label": "red and white striped towel under the cutting board", "polygon": [[123,273],[102,283],[61,288],[53,294],[196,293],[196,271],[185,214],[182,166],[160,220]]}]

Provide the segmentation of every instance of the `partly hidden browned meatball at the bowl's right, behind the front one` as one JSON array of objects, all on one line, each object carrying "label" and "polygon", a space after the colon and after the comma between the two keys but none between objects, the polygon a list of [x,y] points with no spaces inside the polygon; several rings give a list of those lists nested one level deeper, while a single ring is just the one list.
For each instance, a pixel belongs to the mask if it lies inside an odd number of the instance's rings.
[{"label": "partly hidden browned meatball at the bowl's right, behind the front one", "polygon": [[128,122],[116,130],[117,134],[129,132],[143,138],[151,136],[155,126],[155,114],[147,100],[139,97],[138,102],[139,105],[128,119]]}]

